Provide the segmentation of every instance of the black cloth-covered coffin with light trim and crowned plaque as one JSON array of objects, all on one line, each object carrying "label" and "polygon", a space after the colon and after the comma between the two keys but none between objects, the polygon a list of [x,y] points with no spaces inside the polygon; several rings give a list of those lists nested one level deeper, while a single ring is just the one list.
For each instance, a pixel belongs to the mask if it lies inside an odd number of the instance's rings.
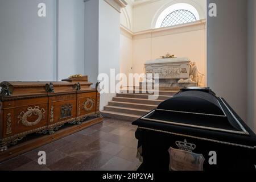
[{"label": "black cloth-covered coffin with light trim and crowned plaque", "polygon": [[255,170],[255,134],[209,88],[181,89],[133,125],[140,169]]}]

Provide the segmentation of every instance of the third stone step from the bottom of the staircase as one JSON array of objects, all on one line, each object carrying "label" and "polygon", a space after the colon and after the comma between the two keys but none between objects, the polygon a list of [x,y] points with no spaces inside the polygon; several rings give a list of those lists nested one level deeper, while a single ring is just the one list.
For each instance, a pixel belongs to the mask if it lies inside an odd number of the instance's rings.
[{"label": "third stone step from the bottom of the staircase", "polygon": [[115,102],[115,101],[110,101],[109,102],[109,106],[132,107],[134,109],[153,110],[158,105],[136,104],[136,103],[131,103],[131,102]]}]

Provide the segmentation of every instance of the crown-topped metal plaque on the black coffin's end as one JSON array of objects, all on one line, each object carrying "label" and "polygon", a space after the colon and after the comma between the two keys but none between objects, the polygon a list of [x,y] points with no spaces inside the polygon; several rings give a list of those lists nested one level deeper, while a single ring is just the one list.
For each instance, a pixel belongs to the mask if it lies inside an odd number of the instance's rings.
[{"label": "crown-topped metal plaque on the black coffin's end", "polygon": [[204,171],[204,156],[192,152],[196,148],[195,144],[184,140],[177,141],[176,145],[179,149],[169,149],[171,171]]}]

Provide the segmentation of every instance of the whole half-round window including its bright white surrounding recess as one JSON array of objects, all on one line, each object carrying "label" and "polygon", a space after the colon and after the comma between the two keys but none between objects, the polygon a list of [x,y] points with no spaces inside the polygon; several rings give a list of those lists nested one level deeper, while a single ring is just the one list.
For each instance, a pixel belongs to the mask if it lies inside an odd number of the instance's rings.
[{"label": "whole half-round window including its bright white surrounding recess", "polygon": [[177,24],[199,20],[199,13],[192,5],[176,3],[165,9],[156,21],[156,28],[175,26]]}]

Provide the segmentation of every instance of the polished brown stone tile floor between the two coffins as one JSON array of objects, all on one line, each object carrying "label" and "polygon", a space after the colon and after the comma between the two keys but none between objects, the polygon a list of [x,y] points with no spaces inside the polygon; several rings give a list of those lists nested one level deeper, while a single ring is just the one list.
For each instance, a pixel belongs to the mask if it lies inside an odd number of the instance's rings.
[{"label": "polished brown stone tile floor between the two coffins", "polygon": [[[57,140],[0,164],[0,170],[133,171],[138,168],[136,127],[131,122],[105,118],[103,123]],[[46,152],[46,165],[38,152]]]}]

